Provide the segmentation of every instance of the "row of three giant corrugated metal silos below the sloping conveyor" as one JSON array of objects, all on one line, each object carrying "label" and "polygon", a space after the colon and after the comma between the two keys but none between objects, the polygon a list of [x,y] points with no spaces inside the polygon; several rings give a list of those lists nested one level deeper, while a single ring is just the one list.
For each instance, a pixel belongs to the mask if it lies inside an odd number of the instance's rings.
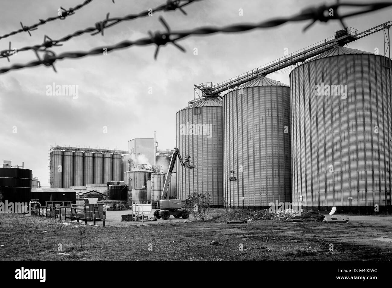
[{"label": "row of three giant corrugated metal silos below the sloping conveyor", "polygon": [[[293,69],[291,87],[260,76],[223,101],[181,109],[177,147],[196,168],[177,165],[178,197],[208,192],[213,205],[232,208],[391,211],[388,67],[383,56],[336,47]],[[211,138],[190,132],[200,125],[212,125]]]}]

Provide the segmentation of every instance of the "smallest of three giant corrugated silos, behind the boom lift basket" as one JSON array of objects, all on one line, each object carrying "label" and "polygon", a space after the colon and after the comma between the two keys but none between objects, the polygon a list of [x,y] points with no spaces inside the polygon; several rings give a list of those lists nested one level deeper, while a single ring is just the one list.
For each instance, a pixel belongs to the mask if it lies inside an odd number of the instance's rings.
[{"label": "smallest of three giant corrugated silos, behind the boom lift basket", "polygon": [[190,155],[196,168],[177,162],[178,199],[192,192],[207,192],[212,205],[223,205],[222,101],[204,97],[176,114],[177,147],[185,160]]}]

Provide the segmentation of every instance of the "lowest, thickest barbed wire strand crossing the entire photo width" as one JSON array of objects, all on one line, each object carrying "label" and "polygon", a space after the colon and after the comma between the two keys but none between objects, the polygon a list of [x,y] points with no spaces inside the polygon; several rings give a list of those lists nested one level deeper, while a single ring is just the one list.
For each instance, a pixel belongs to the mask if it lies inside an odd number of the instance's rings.
[{"label": "lowest, thickest barbed wire strand crossing the entire photo width", "polygon": [[[229,25],[225,27],[201,27],[201,28],[196,28],[188,31],[171,31],[169,28],[169,25],[165,22],[165,20],[162,18],[162,16],[159,17],[160,22],[163,24],[163,26],[166,29],[165,33],[162,33],[160,31],[152,34],[151,31],[149,31],[149,38],[142,38],[136,41],[128,41],[125,40],[123,42],[117,43],[115,45],[107,46],[107,47],[98,47],[95,49],[92,49],[90,51],[74,51],[74,52],[66,52],[66,53],[61,53],[58,56],[53,51],[49,51],[47,49],[44,50],[34,50],[36,53],[36,56],[38,60],[27,63],[27,64],[15,64],[12,65],[11,67],[6,67],[0,69],[0,74],[8,72],[10,70],[16,70],[16,69],[22,69],[25,67],[34,67],[38,65],[45,65],[45,66],[52,66],[54,71],[56,69],[54,68],[54,62],[56,60],[62,60],[65,58],[82,58],[87,55],[96,55],[96,54],[103,54],[103,51],[110,52],[112,50],[117,50],[117,49],[124,49],[127,47],[130,47],[132,45],[151,45],[154,44],[156,45],[156,51],[154,54],[154,58],[156,59],[158,55],[158,51],[160,46],[164,46],[167,43],[172,43],[176,47],[178,47],[181,51],[185,52],[185,49],[175,43],[178,40],[181,40],[183,38],[186,38],[191,35],[206,35],[206,34],[214,34],[218,32],[223,32],[223,33],[238,33],[238,32],[243,32],[243,31],[249,31],[252,29],[258,29],[258,28],[270,28],[270,27],[276,27],[282,24],[285,24],[287,22],[299,22],[299,21],[304,21],[304,20],[312,20],[313,22],[310,24],[314,24],[316,21],[320,22],[328,22],[329,20],[339,20],[341,24],[343,25],[343,29],[345,29],[343,19],[356,16],[359,14],[364,14],[364,13],[369,13],[372,11],[376,11],[379,9],[383,9],[385,7],[389,7],[392,5],[392,2],[377,2],[373,4],[354,4],[354,3],[339,3],[337,2],[336,4],[332,5],[321,5],[319,7],[312,7],[312,8],[306,8],[304,9],[301,13],[291,16],[288,18],[275,18],[272,20],[267,20],[260,22],[258,24],[236,24],[236,25]],[[352,13],[347,13],[344,15],[339,15],[338,12],[336,11],[338,7],[341,6],[350,6],[350,7],[367,7],[364,10],[361,11],[356,11]],[[330,12],[330,9],[334,9],[334,13],[332,15],[325,16],[325,12],[328,11]],[[310,27],[310,25],[307,25],[304,28],[304,31]],[[174,36],[174,37],[172,37]],[[44,52],[44,58],[41,59],[38,55],[38,51]]]}]

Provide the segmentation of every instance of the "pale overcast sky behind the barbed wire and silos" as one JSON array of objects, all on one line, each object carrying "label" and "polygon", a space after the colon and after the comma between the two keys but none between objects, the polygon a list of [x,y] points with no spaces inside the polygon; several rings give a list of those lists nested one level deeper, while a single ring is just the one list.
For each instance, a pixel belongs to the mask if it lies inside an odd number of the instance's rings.
[{"label": "pale overcast sky behind the barbed wire and silos", "polygon": [[[0,1],[0,34],[20,28],[19,22],[31,25],[38,19],[57,15],[59,6],[68,9],[82,0],[13,0]],[[40,44],[47,34],[62,38],[79,29],[94,26],[105,18],[125,16],[154,8],[166,0],[94,0],[65,20],[55,20],[32,31],[0,40],[0,50]],[[104,31],[104,36],[83,34],[55,47],[56,53],[88,51],[123,40],[136,40],[147,32],[162,31],[162,15],[172,30],[192,29],[203,25],[224,26],[241,22],[261,22],[274,17],[290,16],[304,7],[322,4],[314,0],[203,0],[180,11],[154,13],[152,16],[125,21]],[[327,3],[333,3],[328,1]],[[243,9],[243,16],[239,15]],[[365,14],[346,20],[348,26],[363,31],[392,20],[392,9]],[[32,169],[41,185],[48,185],[48,147],[100,147],[127,149],[133,138],[152,138],[156,130],[159,149],[175,145],[176,112],[193,99],[193,85],[223,82],[238,74],[276,60],[318,42],[341,29],[338,22],[317,23],[307,32],[309,22],[285,24],[272,29],[246,33],[194,36],[179,42],[182,53],[173,45],[160,49],[154,60],[154,46],[131,47],[107,55],[58,60],[57,73],[39,66],[14,70],[0,75],[0,161]],[[194,48],[198,54],[194,55]],[[383,33],[350,43],[350,48],[383,53]],[[36,60],[33,51],[19,52],[11,62],[0,59],[0,67]],[[287,70],[287,69],[285,69]],[[284,72],[284,70],[283,70]],[[269,74],[269,78],[289,84],[289,71]],[[78,98],[48,96],[47,85],[78,85]],[[149,94],[152,87],[152,94]],[[107,127],[104,133],[103,127]],[[16,127],[16,130],[15,130]],[[15,133],[16,132],[16,133]]]}]

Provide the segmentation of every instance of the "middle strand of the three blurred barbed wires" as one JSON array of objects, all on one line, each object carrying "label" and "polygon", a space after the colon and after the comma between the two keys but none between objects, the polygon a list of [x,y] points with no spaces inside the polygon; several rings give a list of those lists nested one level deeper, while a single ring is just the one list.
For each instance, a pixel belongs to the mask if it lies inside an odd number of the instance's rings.
[{"label": "middle strand of the three blurred barbed wires", "polygon": [[[91,0],[90,0],[91,1]],[[185,3],[181,2],[185,1]],[[179,9],[182,13],[187,15],[187,13],[183,10],[182,7],[191,4],[192,2],[195,1],[201,1],[201,0],[167,0],[166,4],[159,5],[158,7],[154,9],[149,9],[145,10],[143,12],[140,12],[139,14],[129,14],[127,16],[124,16],[122,18],[109,18],[109,13],[106,14],[106,19],[100,22],[97,22],[94,27],[87,27],[86,29],[83,30],[78,30],[72,34],[69,34],[63,38],[60,38],[58,40],[52,40],[49,38],[49,36],[45,35],[44,36],[44,42],[42,44],[34,45],[34,46],[26,46],[20,49],[13,49],[11,50],[11,42],[9,43],[9,49],[8,50],[2,50],[0,51],[0,58],[7,58],[9,62],[9,56],[13,55],[16,52],[22,52],[22,51],[28,51],[28,50],[39,50],[42,48],[49,48],[52,46],[61,46],[61,42],[65,42],[70,40],[73,37],[80,36],[85,33],[92,33],[91,35],[96,35],[98,33],[102,33],[103,36],[103,29],[111,27],[113,25],[116,25],[120,22],[123,21],[129,21],[129,20],[134,20],[136,18],[140,17],[145,17],[151,15],[151,13],[158,12],[158,11],[174,11],[176,9]]]}]

